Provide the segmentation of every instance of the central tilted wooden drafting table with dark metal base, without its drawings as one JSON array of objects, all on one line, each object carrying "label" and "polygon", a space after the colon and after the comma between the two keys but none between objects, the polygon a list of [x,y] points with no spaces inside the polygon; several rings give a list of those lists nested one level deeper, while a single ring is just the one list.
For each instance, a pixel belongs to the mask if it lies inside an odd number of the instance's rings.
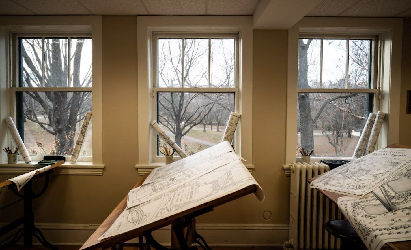
[{"label": "central tilted wooden drafting table with dark metal base, without its drawings", "polygon": [[[141,186],[141,184],[144,182],[145,178],[147,178],[148,174],[146,174],[142,180],[140,180],[133,188],[137,186]],[[161,245],[156,245],[156,241],[151,237],[151,232],[157,229],[160,229],[166,225],[171,224],[171,228],[173,231],[173,234],[177,237],[177,242],[173,242],[172,239],[172,249],[197,249],[195,246],[190,247],[189,241],[186,242],[180,242],[182,240],[182,227],[185,226],[191,226],[189,230],[192,230],[192,234],[196,234],[195,232],[195,220],[194,217],[199,216],[201,214],[207,213],[209,211],[212,211],[214,207],[217,207],[219,205],[222,205],[226,202],[230,202],[232,200],[236,200],[242,196],[245,196],[249,193],[254,193],[257,191],[257,186],[256,185],[250,185],[247,186],[246,188],[243,188],[239,191],[236,191],[234,193],[231,193],[229,195],[225,195],[221,198],[217,198],[215,200],[212,200],[207,203],[203,203],[202,205],[199,205],[197,207],[193,207],[190,209],[187,209],[186,211],[183,211],[181,213],[169,216],[167,218],[164,218],[162,220],[155,221],[153,223],[150,223],[148,225],[136,228],[134,230],[130,230],[126,233],[118,234],[116,236],[113,236],[111,238],[103,239],[103,240],[98,240],[100,236],[106,232],[106,230],[113,224],[115,219],[121,214],[121,212],[125,209],[127,205],[127,195],[125,198],[122,199],[122,201],[115,207],[115,209],[111,212],[111,214],[104,220],[104,222],[97,228],[97,230],[90,236],[90,238],[83,244],[83,246],[80,248],[80,250],[85,250],[85,249],[97,249],[97,248],[110,248],[112,247],[113,249],[116,247],[116,245],[120,245],[124,243],[125,241],[129,241],[131,239],[139,237],[139,242],[142,242],[143,240],[143,235],[145,236],[146,240],[152,245],[156,250],[162,250],[162,249],[169,249],[169,248],[164,248]],[[200,237],[200,239],[205,243],[205,241],[202,239],[201,236],[198,234],[192,235],[191,237]],[[184,238],[184,237],[183,237]],[[195,241],[195,240],[194,240]],[[181,246],[183,245],[183,246]],[[205,243],[206,245],[206,243]],[[207,245],[206,245],[207,246]],[[208,246],[207,246],[208,247]],[[143,249],[143,245],[140,245],[140,249]]]}]

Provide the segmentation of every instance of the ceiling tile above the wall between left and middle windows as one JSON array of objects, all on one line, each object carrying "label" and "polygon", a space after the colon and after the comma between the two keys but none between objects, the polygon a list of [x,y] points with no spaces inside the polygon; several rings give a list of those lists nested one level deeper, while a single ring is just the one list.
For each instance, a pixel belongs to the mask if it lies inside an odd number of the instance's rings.
[{"label": "ceiling tile above the wall between left and middle windows", "polygon": [[147,15],[140,0],[79,0],[95,15]]}]

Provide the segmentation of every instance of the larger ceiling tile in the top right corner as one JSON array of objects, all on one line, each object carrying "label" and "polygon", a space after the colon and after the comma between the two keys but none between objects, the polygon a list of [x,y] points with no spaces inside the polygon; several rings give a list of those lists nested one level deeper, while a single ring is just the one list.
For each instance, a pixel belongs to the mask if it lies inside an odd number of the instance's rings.
[{"label": "larger ceiling tile in the top right corner", "polygon": [[409,0],[360,0],[341,16],[391,17],[409,8]]}]

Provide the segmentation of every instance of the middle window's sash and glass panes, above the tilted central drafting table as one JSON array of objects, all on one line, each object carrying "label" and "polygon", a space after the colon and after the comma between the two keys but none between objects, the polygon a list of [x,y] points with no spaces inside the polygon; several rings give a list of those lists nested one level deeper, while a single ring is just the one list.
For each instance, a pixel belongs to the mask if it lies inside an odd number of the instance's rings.
[{"label": "middle window's sash and glass panes, above the tilted central drafting table", "polygon": [[[153,119],[188,154],[219,143],[238,103],[238,34],[156,34],[153,41]],[[155,158],[160,143],[155,136]]]}]

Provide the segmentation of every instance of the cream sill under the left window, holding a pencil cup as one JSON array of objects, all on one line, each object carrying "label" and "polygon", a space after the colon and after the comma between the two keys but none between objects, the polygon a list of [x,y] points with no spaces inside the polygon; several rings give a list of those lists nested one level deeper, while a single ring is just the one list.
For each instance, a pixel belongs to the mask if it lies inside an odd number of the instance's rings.
[{"label": "cream sill under the left window, holding a pencil cup", "polygon": [[[28,164],[24,161],[18,161],[17,164],[0,164],[0,174],[21,175],[35,170],[36,166],[32,166],[33,164],[37,164],[37,161]],[[93,164],[91,161],[66,162],[54,169],[58,175],[103,175],[103,170],[104,164]]]}]

